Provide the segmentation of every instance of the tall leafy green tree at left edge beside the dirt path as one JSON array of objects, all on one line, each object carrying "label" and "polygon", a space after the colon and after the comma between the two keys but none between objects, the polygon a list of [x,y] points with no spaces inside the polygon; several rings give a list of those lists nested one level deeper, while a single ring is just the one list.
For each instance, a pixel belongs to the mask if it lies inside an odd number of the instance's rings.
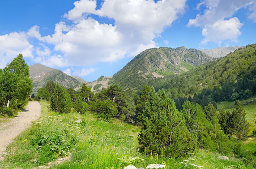
[{"label": "tall leafy green tree at left edge beside the dirt path", "polygon": [[10,64],[0,69],[0,104],[2,111],[10,106],[11,109],[22,109],[28,101],[32,90],[32,80],[29,79],[28,65],[19,54]]}]

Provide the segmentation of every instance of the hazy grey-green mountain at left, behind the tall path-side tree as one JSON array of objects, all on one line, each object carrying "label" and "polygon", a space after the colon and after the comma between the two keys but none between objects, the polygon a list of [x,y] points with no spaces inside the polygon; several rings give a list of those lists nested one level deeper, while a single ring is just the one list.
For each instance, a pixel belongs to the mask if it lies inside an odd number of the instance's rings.
[{"label": "hazy grey-green mountain at left, behind the tall path-side tree", "polygon": [[77,77],[71,77],[63,73],[61,70],[48,68],[41,64],[34,64],[29,66],[30,78],[33,80],[34,94],[37,94],[39,88],[44,87],[48,81],[59,83],[65,88],[74,88],[79,90],[82,87],[83,81]]}]

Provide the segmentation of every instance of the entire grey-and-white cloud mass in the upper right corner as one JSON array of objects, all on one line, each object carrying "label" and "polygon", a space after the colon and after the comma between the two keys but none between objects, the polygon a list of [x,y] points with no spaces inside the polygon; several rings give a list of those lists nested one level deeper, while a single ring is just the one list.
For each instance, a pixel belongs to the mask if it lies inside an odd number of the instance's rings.
[{"label": "entire grey-and-white cloud mass in the upper right corner", "polygon": [[195,19],[190,19],[187,26],[202,28],[204,39],[202,44],[215,42],[219,45],[225,40],[236,41],[241,35],[240,28],[243,24],[237,17],[232,17],[240,8],[253,4],[255,0],[203,0],[197,9],[204,6],[203,14],[198,14]]}]

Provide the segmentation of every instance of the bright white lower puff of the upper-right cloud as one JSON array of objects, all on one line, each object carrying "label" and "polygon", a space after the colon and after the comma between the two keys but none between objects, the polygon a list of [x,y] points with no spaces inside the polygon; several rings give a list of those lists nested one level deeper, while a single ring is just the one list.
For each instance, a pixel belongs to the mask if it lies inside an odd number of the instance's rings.
[{"label": "bright white lower puff of the upper-right cloud", "polygon": [[236,41],[241,35],[240,28],[242,25],[237,17],[229,20],[218,20],[212,25],[206,25],[202,31],[204,39],[201,43],[205,45],[208,42],[215,42],[220,45],[225,40]]}]

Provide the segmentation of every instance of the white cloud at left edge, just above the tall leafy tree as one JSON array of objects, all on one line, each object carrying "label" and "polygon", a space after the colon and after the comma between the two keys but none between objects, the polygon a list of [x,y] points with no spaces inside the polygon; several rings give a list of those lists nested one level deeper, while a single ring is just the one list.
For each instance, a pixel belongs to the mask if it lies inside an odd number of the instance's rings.
[{"label": "white cloud at left edge, just above the tall leafy tree", "polygon": [[33,58],[33,50],[34,47],[28,42],[25,32],[0,35],[0,68],[4,68],[19,54]]}]

